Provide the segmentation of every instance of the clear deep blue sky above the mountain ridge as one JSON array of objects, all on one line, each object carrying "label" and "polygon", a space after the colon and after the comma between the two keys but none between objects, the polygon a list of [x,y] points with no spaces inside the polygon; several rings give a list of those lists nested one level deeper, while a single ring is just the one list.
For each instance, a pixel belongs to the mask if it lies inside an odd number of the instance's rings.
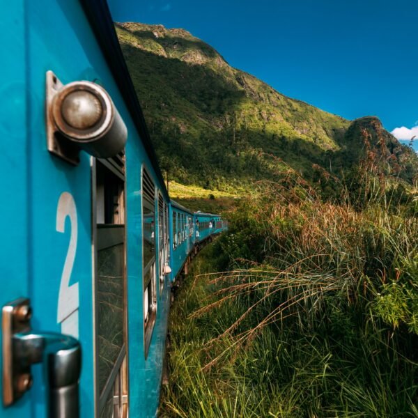
[{"label": "clear deep blue sky above the mountain ridge", "polygon": [[108,1],[116,22],[187,29],[281,93],[418,135],[417,0]]}]

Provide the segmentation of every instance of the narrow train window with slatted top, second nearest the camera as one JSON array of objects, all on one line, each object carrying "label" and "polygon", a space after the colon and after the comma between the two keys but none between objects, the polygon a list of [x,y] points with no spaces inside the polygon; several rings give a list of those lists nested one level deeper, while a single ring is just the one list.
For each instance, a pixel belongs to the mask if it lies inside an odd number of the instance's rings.
[{"label": "narrow train window with slatted top, second nearest the camera", "polygon": [[144,274],[144,341],[148,355],[157,315],[155,263],[155,185],[146,169],[142,171],[142,261]]}]

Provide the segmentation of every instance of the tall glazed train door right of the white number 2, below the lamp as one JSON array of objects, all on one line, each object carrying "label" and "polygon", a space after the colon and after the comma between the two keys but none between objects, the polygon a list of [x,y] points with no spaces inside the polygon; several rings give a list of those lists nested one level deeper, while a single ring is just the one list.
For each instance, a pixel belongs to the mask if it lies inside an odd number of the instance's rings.
[{"label": "tall glazed train door right of the white number 2, below the lamp", "polygon": [[128,408],[123,153],[93,160],[93,219],[96,410],[101,418],[123,418]]}]

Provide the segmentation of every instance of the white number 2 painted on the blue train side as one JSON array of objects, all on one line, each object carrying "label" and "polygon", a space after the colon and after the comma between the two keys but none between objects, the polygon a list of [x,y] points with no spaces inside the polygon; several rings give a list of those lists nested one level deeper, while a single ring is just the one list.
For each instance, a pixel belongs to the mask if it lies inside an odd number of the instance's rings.
[{"label": "white number 2 painted on the blue train side", "polygon": [[70,244],[61,274],[56,321],[61,323],[63,334],[78,338],[79,284],[75,283],[70,286],[72,266],[77,251],[77,208],[72,194],[63,192],[59,196],[56,210],[56,231],[65,232],[65,219],[67,217],[70,217]]}]

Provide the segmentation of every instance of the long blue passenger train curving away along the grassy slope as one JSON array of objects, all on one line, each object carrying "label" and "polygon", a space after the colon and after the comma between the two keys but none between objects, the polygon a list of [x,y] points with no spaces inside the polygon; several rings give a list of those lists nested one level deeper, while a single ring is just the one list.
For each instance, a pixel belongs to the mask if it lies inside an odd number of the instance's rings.
[{"label": "long blue passenger train curving away along the grassy slope", "polygon": [[226,222],[170,199],[106,1],[1,8],[0,417],[155,417],[172,284]]}]

